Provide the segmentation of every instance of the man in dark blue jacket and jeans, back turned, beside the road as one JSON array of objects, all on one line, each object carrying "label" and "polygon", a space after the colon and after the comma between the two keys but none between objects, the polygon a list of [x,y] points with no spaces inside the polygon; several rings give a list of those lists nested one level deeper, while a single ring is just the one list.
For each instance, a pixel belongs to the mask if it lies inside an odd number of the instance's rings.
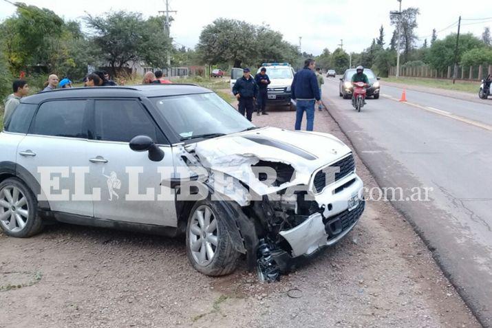
[{"label": "man in dark blue jacket and jeans, back turned, beside the road", "polygon": [[314,60],[306,59],[304,68],[297,72],[290,87],[292,99],[297,102],[295,129],[301,129],[302,117],[306,111],[308,120],[306,130],[312,131],[314,126],[314,104],[321,100],[319,95],[318,80],[314,74]]}]

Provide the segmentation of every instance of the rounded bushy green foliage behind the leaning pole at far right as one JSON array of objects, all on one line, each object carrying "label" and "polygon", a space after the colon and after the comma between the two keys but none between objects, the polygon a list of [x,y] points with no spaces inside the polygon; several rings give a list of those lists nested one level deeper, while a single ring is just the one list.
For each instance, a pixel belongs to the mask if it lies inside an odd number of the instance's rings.
[{"label": "rounded bushy green foliage behind the leaning pole at far right", "polygon": [[[456,33],[449,34],[443,40],[436,40],[430,47],[427,62],[432,68],[444,71],[448,66],[454,65],[456,47]],[[460,63],[464,52],[475,48],[484,47],[484,43],[473,34],[460,35],[458,46],[458,63]]]}]

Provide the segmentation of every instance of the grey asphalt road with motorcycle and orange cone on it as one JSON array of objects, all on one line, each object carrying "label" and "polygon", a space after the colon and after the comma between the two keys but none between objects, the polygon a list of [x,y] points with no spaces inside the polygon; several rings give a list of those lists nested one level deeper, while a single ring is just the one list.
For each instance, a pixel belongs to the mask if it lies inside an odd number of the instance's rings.
[{"label": "grey asphalt road with motorcycle and orange cone on it", "polygon": [[[405,190],[392,203],[492,327],[492,101],[407,90],[402,103],[402,89],[381,85],[358,113],[339,97],[339,78],[325,78],[323,102],[378,184]],[[432,188],[429,201],[407,201],[413,187]]]}]

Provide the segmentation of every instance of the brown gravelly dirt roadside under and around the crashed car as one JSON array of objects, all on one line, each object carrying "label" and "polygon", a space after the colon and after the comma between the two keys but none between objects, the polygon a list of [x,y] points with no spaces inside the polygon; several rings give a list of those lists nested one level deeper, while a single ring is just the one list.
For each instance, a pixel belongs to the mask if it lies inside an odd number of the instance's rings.
[{"label": "brown gravelly dirt roadside under and around the crashed car", "polygon": [[[294,121],[285,108],[253,116],[259,126]],[[317,111],[314,129],[347,142],[328,111]],[[0,249],[0,327],[480,327],[385,202],[368,202],[343,241],[279,283],[259,283],[244,267],[210,278],[189,265],[184,239],[99,228],[0,234]]]}]

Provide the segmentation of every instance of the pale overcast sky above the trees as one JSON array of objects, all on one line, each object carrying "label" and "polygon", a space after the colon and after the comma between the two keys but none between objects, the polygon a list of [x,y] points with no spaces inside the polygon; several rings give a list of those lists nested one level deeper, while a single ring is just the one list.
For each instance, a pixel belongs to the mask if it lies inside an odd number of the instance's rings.
[{"label": "pale overcast sky above the trees", "polygon": [[[86,14],[100,15],[111,10],[141,12],[145,17],[158,15],[165,10],[164,0],[23,0],[29,5],[53,10],[64,19],[77,19]],[[487,1],[485,1],[487,2]],[[389,44],[394,27],[389,23],[389,11],[398,10],[397,0],[169,0],[172,14],[171,36],[175,43],[195,47],[204,26],[218,17],[239,19],[253,24],[266,23],[284,34],[284,39],[299,45],[310,54],[321,54],[324,48],[331,52],[339,47],[347,52],[361,52],[369,47],[383,25],[385,43]],[[466,5],[465,5],[466,4]],[[461,33],[471,32],[481,36],[484,27],[492,28],[492,9],[484,1],[467,0],[403,0],[402,9],[416,7],[420,10],[416,34],[423,43],[430,41],[432,29],[443,30],[462,16]],[[488,8],[485,9],[484,8]],[[14,14],[15,7],[0,0],[0,21]],[[489,17],[485,21],[471,20]],[[456,32],[457,27],[438,33],[441,39]]]}]

